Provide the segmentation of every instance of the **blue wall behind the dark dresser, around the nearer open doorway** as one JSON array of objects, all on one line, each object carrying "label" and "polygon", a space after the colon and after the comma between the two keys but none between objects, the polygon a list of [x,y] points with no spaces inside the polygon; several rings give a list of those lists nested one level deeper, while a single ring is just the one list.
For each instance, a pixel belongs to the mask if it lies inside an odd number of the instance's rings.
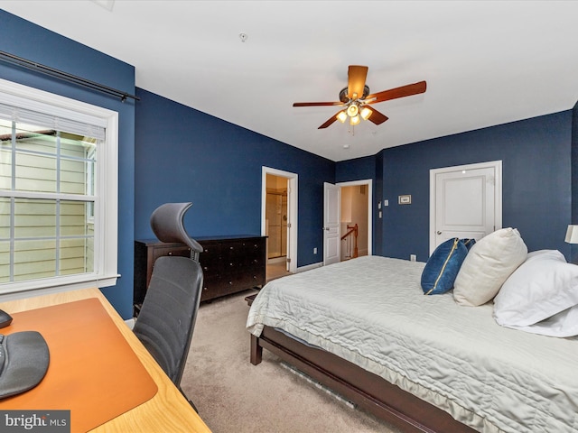
[{"label": "blue wall behind the dark dresser, around the nearer open doorway", "polygon": [[191,201],[192,237],[260,235],[262,167],[299,178],[297,266],[322,261],[323,182],[335,162],[137,88],[135,238],[154,238],[149,217]]}]

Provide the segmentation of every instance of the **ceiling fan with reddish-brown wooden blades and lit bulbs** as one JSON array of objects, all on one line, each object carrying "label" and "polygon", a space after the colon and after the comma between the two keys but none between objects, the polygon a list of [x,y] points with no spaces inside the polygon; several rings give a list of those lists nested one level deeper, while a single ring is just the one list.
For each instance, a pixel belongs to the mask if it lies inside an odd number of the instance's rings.
[{"label": "ceiling fan with reddish-brown wooden blades and lit bulbs", "polygon": [[295,102],[293,106],[343,106],[344,108],[332,115],[331,118],[322,124],[318,129],[328,127],[330,124],[339,120],[344,123],[348,117],[350,124],[355,125],[361,122],[361,119],[369,120],[374,124],[383,124],[387,120],[387,115],[378,112],[373,106],[378,102],[396,99],[398,97],[411,97],[425,91],[425,81],[419,81],[414,84],[408,84],[400,88],[390,88],[383,92],[369,94],[369,88],[365,84],[368,76],[367,66],[350,65],[348,69],[348,85],[340,91],[339,102]]}]

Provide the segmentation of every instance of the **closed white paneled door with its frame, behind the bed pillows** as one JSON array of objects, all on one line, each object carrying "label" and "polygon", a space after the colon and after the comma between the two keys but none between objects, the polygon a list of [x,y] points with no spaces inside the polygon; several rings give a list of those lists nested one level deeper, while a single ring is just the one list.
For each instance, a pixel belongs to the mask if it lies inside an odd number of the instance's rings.
[{"label": "closed white paneled door with its frame, behind the bed pillows", "polygon": [[430,253],[452,237],[501,228],[501,161],[431,170]]}]

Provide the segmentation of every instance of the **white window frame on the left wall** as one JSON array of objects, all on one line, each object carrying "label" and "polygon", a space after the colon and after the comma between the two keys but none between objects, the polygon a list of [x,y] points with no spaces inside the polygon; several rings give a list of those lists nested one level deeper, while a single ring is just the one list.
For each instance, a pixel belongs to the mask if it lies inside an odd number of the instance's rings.
[{"label": "white window frame on the left wall", "polygon": [[0,78],[0,102],[42,112],[46,112],[49,108],[52,114],[80,121],[96,117],[106,124],[105,144],[102,148],[98,148],[96,172],[95,189],[98,199],[94,206],[94,272],[0,283],[0,297],[6,300],[15,299],[22,297],[23,292],[30,290],[34,291],[34,295],[41,295],[116,285],[117,278],[120,276],[117,272],[118,113],[2,78]]}]

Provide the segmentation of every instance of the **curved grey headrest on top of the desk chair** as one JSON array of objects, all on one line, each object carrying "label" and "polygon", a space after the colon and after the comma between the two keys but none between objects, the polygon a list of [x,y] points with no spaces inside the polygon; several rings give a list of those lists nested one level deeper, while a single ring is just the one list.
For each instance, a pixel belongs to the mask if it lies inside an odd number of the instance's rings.
[{"label": "curved grey headrest on top of the desk chair", "polygon": [[177,242],[191,248],[191,259],[199,260],[202,246],[187,234],[182,219],[192,203],[165,203],[154,209],[151,228],[161,242]]}]

